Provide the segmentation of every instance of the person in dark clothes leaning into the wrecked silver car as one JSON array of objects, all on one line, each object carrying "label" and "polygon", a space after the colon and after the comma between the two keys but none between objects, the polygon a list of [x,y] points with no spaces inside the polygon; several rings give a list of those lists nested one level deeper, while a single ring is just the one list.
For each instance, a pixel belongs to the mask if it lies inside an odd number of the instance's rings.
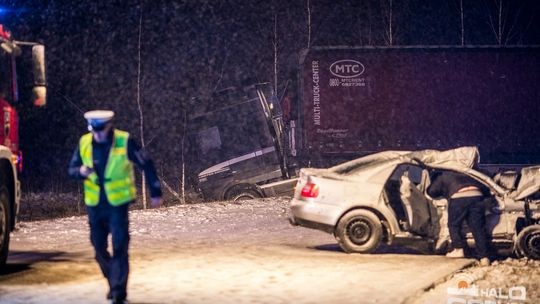
[{"label": "person in dark clothes leaning into the wrecked silver car", "polygon": [[447,257],[462,258],[465,240],[461,235],[463,221],[472,231],[476,252],[482,265],[489,265],[488,236],[485,230],[486,218],[484,207],[485,187],[471,177],[452,171],[437,172],[427,193],[431,197],[444,197],[448,200],[448,230],[453,251]]}]

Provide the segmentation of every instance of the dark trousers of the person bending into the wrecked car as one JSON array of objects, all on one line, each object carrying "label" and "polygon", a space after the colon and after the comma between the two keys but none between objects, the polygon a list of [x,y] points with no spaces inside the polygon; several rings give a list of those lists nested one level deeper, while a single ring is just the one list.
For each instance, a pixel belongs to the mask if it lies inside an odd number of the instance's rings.
[{"label": "dark trousers of the person bending into the wrecked car", "polygon": [[480,257],[488,256],[488,237],[486,233],[486,215],[482,196],[450,199],[448,202],[448,230],[454,248],[464,248],[461,235],[463,221],[471,229],[476,244],[476,253]]}]

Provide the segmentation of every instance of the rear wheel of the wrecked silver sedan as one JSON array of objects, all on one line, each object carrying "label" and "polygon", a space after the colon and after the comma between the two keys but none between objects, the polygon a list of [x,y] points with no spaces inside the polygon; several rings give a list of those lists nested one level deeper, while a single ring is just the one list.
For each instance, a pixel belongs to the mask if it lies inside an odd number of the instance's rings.
[{"label": "rear wheel of the wrecked silver sedan", "polygon": [[369,210],[357,209],[345,214],[336,227],[339,246],[348,253],[369,253],[376,250],[382,240],[382,224]]}]

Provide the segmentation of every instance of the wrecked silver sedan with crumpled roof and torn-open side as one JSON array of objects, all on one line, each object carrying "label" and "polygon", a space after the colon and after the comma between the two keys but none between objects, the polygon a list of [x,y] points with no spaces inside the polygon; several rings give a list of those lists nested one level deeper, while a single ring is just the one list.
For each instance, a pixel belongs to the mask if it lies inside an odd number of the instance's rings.
[{"label": "wrecked silver sedan with crumpled roof and torn-open side", "polygon": [[[445,253],[450,235],[447,201],[427,194],[430,173],[450,170],[485,186],[486,229],[499,254],[540,259],[540,166],[489,177],[476,147],[385,151],[328,169],[300,170],[290,222],[331,233],[348,253],[370,253],[381,243],[426,244]],[[467,243],[474,247],[464,225]]]}]

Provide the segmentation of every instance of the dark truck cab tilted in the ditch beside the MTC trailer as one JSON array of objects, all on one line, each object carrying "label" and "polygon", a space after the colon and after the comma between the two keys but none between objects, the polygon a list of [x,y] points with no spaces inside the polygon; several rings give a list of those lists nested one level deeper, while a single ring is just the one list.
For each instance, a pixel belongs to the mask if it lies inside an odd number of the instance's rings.
[{"label": "dark truck cab tilted in the ditch beside the MTC trailer", "polygon": [[[227,88],[192,100],[187,120],[190,180],[204,200],[292,195],[283,120],[270,84]],[[294,170],[293,170],[294,171]]]}]

